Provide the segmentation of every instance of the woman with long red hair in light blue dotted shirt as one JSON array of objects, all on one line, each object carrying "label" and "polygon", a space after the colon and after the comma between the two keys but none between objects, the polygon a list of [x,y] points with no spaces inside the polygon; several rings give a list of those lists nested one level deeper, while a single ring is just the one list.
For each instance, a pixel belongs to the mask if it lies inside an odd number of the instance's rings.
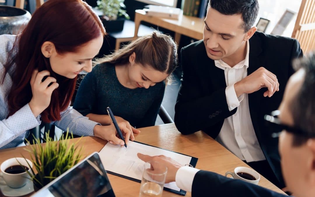
[{"label": "woman with long red hair in light blue dotted shirt", "polygon": [[[69,107],[77,75],[91,72],[104,35],[82,0],[49,0],[20,35],[0,36],[0,148],[15,147],[41,121],[124,145],[113,125],[101,126]],[[134,139],[121,129],[127,143]]]}]

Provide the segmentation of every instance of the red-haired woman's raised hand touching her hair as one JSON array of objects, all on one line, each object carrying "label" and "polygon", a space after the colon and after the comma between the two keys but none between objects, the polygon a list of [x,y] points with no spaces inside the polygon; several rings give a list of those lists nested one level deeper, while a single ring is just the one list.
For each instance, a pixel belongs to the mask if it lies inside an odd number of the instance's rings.
[{"label": "red-haired woman's raised hand touching her hair", "polygon": [[43,81],[43,78],[49,75],[50,72],[47,70],[41,72],[38,72],[38,70],[33,71],[30,82],[33,96],[29,102],[29,106],[35,117],[49,106],[51,94],[59,86],[56,82],[57,80],[53,77],[47,77]]}]

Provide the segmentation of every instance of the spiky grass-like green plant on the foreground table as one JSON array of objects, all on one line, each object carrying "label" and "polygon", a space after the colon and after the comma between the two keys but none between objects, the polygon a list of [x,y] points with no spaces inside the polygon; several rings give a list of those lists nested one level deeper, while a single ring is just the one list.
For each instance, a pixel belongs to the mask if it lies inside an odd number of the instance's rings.
[{"label": "spiky grass-like green plant on the foreground table", "polygon": [[49,137],[49,133],[46,133],[46,144],[42,146],[40,140],[35,139],[35,141],[33,140],[34,145],[30,146],[30,149],[25,148],[31,153],[30,160],[37,171],[35,174],[35,171],[28,164],[32,173],[29,171],[27,173],[38,188],[47,185],[81,160],[82,147],[78,148],[77,146],[81,138],[71,145],[69,145],[69,138],[73,138],[72,133],[69,135],[69,130],[67,130],[66,135],[61,136],[61,141],[54,141],[53,138]]}]

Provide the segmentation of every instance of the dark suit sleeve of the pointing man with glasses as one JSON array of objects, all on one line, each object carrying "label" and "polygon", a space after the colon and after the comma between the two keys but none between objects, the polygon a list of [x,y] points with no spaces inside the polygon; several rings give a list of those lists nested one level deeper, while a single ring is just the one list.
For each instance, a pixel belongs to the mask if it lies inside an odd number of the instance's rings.
[{"label": "dark suit sleeve of the pointing man with glasses", "polygon": [[192,197],[288,197],[269,189],[233,180],[209,171],[198,171],[192,182]]}]

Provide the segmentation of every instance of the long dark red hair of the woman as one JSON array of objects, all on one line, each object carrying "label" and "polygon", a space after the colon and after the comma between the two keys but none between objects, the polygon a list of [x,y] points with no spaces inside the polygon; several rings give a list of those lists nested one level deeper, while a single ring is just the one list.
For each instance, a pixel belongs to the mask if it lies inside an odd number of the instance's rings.
[{"label": "long dark red hair of the woman", "polygon": [[[72,99],[77,78],[69,79],[53,72],[41,46],[50,41],[58,54],[76,52],[84,43],[101,34],[105,35],[105,29],[99,17],[82,0],[49,0],[38,8],[24,31],[17,36],[4,65],[5,76],[15,64],[13,85],[8,94],[8,117],[31,101],[31,75],[38,69],[39,72],[48,70],[59,83],[51,95],[49,106],[41,113],[41,119],[44,122],[60,120],[60,112],[66,110]],[[16,55],[13,55],[14,51],[17,51]]]}]

